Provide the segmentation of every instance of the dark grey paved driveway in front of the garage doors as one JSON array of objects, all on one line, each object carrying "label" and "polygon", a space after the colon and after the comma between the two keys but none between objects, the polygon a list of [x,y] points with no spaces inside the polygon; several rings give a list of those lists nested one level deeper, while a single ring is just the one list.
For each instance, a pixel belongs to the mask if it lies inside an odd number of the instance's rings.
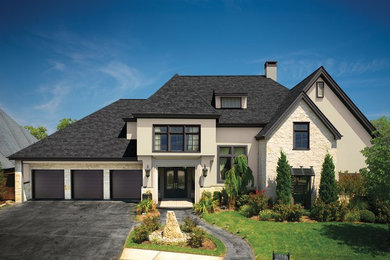
[{"label": "dark grey paved driveway in front of the garage doors", "polygon": [[0,259],[118,259],[134,205],[29,201],[0,209]]}]

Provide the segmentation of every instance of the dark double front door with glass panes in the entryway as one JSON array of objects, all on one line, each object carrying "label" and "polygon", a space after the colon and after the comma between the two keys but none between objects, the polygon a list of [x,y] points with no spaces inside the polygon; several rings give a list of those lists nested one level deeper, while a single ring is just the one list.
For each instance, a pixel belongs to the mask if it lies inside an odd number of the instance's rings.
[{"label": "dark double front door with glass panes in the entryway", "polygon": [[164,173],[164,197],[187,197],[186,170],[184,168],[166,168]]}]

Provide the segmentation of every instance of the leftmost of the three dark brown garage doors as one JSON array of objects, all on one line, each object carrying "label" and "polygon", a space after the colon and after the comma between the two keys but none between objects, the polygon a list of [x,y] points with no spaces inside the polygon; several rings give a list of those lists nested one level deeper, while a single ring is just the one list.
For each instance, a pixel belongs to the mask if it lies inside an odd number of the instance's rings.
[{"label": "leftmost of the three dark brown garage doors", "polygon": [[63,170],[33,170],[34,199],[64,199]]}]

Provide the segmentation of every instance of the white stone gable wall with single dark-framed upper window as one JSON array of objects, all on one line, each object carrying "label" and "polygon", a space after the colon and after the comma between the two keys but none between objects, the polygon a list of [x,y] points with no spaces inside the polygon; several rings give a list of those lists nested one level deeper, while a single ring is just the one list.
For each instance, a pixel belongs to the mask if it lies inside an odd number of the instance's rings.
[{"label": "white stone gable wall with single dark-framed upper window", "polygon": [[[310,150],[293,150],[294,122],[310,122]],[[337,143],[333,134],[304,101],[296,105],[296,108],[292,110],[287,116],[287,119],[285,119],[283,124],[279,126],[268,141],[260,142],[260,147],[262,145],[264,146],[262,142],[266,142],[266,154],[262,150],[263,154],[260,156],[260,163],[262,163],[261,159],[264,160],[265,158],[266,161],[266,175],[262,177],[263,182],[265,182],[267,194],[272,197],[276,195],[276,168],[281,150],[286,153],[287,160],[294,168],[313,166],[315,172],[313,195],[316,195],[318,192],[322,163],[326,153],[329,152],[333,156],[335,164],[337,161]],[[313,199],[314,197],[312,196]]]}]

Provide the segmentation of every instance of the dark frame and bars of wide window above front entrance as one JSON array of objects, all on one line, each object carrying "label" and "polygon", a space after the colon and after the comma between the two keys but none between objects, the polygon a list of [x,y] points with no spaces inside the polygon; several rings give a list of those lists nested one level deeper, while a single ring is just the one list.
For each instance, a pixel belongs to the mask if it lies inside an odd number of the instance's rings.
[{"label": "dark frame and bars of wide window above front entrance", "polygon": [[[154,153],[200,153],[201,152],[201,127],[200,125],[186,125],[186,124],[153,124],[153,137],[152,137],[152,152]],[[167,150],[155,150],[154,149],[154,141],[155,141],[155,127],[167,127],[167,132],[162,133],[167,135]],[[183,133],[170,133],[170,127],[183,127]],[[186,127],[198,127],[199,128],[199,147],[197,151],[188,151],[187,150],[187,135],[196,135],[196,133],[186,133]],[[160,134],[160,133],[157,133]],[[170,142],[171,142],[171,134],[182,134],[183,135],[183,150],[182,151],[171,151]]]}]

